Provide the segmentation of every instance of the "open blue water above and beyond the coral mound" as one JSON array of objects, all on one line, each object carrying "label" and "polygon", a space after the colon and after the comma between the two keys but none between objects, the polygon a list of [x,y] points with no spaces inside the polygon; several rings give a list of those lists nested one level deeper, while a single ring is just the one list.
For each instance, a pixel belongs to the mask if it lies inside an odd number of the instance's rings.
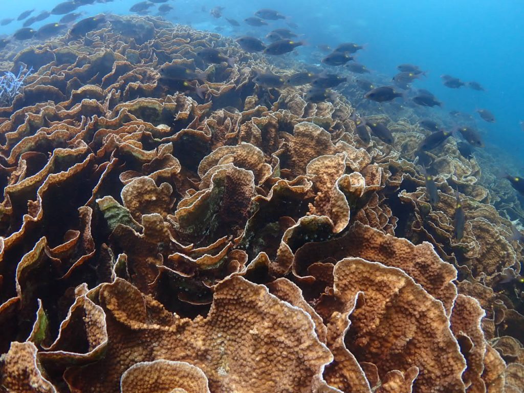
[{"label": "open blue water above and beyond the coral mound", "polygon": [[[3,17],[17,17],[23,10],[50,10],[59,1],[24,0],[3,2]],[[128,13],[136,1],[115,0],[108,4],[84,6],[86,15],[99,12]],[[433,92],[444,103],[442,116],[451,110],[474,115],[486,140],[487,149],[497,148],[512,156],[519,168],[524,167],[522,146],[524,132],[519,124],[524,120],[524,3],[517,0],[407,0],[380,1],[298,1],[264,0],[238,1],[171,1],[175,11],[166,15],[174,23],[191,24],[195,28],[211,29],[222,26],[222,34],[239,36],[265,34],[275,27],[287,27],[284,21],[257,28],[242,24],[232,28],[224,18],[215,19],[209,10],[225,7],[224,17],[242,21],[259,8],[274,8],[299,25],[297,32],[309,43],[298,48],[308,53],[314,46],[325,43],[335,46],[344,41],[366,43],[359,52],[358,62],[368,69],[392,77],[400,63],[413,63],[428,71],[428,77],[413,86]],[[202,6],[205,12],[202,12]],[[35,15],[34,14],[34,15]],[[176,19],[174,18],[176,17]],[[36,24],[38,27],[60,16]],[[20,22],[0,27],[0,36],[9,35],[21,27]],[[471,89],[448,89],[441,74],[451,74],[463,81],[477,81],[485,92]],[[497,119],[488,124],[475,114],[477,108],[487,108]],[[501,163],[505,165],[505,163]]]}]

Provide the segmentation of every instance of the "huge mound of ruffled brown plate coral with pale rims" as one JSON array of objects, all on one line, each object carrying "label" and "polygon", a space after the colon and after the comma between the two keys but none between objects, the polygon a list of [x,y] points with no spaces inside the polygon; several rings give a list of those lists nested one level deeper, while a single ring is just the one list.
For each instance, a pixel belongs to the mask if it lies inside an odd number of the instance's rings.
[{"label": "huge mound of ruffled brown plate coral with pale rims", "polygon": [[0,391],[523,391],[522,247],[454,142],[430,204],[407,120],[364,146],[342,95],[152,17],[1,60],[33,71],[0,108]]}]

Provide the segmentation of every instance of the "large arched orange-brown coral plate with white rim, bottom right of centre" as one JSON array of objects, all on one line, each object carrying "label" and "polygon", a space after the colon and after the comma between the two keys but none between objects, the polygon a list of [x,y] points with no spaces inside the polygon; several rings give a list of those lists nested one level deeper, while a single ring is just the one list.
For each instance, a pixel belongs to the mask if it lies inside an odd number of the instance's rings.
[{"label": "large arched orange-brown coral plate with white rim, bottom right of centre", "polygon": [[417,366],[416,391],[464,391],[466,364],[440,301],[402,270],[364,259],[339,261],[334,275],[334,294],[345,308],[364,293],[344,340],[359,361],[376,364],[381,376]]}]

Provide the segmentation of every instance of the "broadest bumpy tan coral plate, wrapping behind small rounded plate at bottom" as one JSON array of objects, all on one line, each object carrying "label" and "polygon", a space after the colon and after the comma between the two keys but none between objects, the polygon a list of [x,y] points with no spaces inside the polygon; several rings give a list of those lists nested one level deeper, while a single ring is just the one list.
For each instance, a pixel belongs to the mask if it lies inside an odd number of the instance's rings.
[{"label": "broadest bumpy tan coral plate, wrapping behind small rounded plate at bottom", "polygon": [[156,359],[191,362],[208,377],[211,391],[306,392],[332,360],[307,313],[241,277],[220,283],[207,318],[193,321],[121,279],[104,285],[100,297],[111,345],[101,361],[68,371],[73,392],[118,391],[127,368]]}]

